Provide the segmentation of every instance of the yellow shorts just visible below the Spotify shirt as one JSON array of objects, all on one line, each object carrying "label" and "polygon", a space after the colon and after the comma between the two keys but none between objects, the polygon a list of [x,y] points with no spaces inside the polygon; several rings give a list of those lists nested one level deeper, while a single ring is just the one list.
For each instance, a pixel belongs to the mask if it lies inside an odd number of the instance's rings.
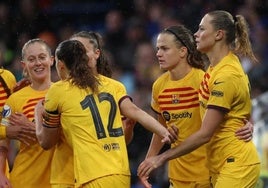
[{"label": "yellow shorts just visible below the Spotify shirt", "polygon": [[210,188],[210,181],[178,181],[170,179],[169,188]]}]

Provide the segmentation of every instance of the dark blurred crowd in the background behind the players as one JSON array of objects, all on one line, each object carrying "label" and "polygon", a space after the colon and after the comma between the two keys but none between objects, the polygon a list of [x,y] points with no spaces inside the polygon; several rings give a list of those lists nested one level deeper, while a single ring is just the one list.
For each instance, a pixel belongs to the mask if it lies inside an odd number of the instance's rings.
[{"label": "dark blurred crowd in the background behind the players", "polygon": [[[242,63],[250,78],[252,98],[258,99],[268,90],[268,0],[1,0],[0,51],[3,55],[0,62],[20,80],[20,52],[29,39],[42,38],[54,50],[74,32],[97,31],[103,36],[113,78],[125,84],[135,104],[154,115],[150,109],[151,86],[162,73],[154,48],[157,34],[176,24],[184,24],[195,32],[201,17],[215,9],[242,14],[249,23],[259,63],[252,65],[247,59]],[[55,68],[52,75],[52,80],[57,81]],[[262,110],[267,116],[267,106]],[[151,133],[137,125],[128,146],[136,188],[139,187],[136,168],[144,159],[150,140]],[[155,187],[165,187],[166,170],[154,173],[151,182]]]}]

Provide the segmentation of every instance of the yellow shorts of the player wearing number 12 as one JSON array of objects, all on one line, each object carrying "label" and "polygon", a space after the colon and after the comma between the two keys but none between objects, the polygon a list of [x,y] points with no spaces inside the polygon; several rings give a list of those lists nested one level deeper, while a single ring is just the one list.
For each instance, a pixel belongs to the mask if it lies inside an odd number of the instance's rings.
[{"label": "yellow shorts of the player wearing number 12", "polygon": [[126,175],[104,176],[79,186],[79,188],[107,188],[107,187],[130,188],[130,176]]}]

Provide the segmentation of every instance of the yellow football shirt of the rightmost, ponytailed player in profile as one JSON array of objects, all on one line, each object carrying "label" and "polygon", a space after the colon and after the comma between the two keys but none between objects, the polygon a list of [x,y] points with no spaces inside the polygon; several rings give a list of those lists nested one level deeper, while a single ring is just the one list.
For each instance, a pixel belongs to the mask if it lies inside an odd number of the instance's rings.
[{"label": "yellow football shirt of the rightmost, ponytailed player in profile", "polygon": [[217,173],[226,162],[237,166],[259,163],[253,142],[235,136],[251,113],[250,85],[237,56],[229,53],[215,67],[208,68],[199,96],[201,116],[207,108],[226,113],[224,122],[207,144],[209,169]]}]

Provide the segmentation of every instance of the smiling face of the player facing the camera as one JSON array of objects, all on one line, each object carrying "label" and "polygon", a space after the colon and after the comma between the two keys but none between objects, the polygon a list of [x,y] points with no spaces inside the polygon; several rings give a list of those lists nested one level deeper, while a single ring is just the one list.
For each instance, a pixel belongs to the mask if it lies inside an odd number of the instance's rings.
[{"label": "smiling face of the player facing the camera", "polygon": [[43,43],[34,42],[25,48],[22,65],[33,82],[42,82],[50,79],[53,60]]}]

